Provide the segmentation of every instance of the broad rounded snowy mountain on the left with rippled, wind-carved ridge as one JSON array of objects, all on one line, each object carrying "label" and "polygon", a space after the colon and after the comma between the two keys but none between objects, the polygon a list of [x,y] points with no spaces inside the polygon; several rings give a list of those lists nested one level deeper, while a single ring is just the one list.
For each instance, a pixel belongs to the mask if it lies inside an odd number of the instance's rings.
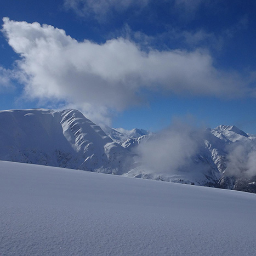
[{"label": "broad rounded snowy mountain on the left with rippled, wind-carved ridge", "polygon": [[0,111],[0,160],[122,174],[129,152],[77,110]]}]

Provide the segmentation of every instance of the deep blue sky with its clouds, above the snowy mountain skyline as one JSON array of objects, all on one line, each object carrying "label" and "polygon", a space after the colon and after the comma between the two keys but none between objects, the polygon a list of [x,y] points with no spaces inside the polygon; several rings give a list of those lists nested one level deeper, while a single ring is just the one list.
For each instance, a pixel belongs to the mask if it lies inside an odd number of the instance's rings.
[{"label": "deep blue sky with its clouds, above the snowy mountain skyline", "polygon": [[74,107],[126,129],[192,117],[256,134],[255,10],[253,0],[1,1],[0,109]]}]

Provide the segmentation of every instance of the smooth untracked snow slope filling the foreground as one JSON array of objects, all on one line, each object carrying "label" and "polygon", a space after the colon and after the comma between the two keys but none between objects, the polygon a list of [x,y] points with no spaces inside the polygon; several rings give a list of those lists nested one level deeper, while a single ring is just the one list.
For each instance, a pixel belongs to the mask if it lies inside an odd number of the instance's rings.
[{"label": "smooth untracked snow slope filling the foreground", "polygon": [[255,255],[256,195],[0,161],[1,255]]}]

